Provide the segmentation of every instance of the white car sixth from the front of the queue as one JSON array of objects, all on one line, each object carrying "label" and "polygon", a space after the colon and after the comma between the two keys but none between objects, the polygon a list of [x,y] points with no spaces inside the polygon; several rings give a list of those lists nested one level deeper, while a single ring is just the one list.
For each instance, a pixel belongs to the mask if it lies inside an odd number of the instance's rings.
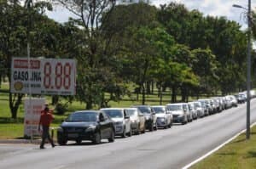
[{"label": "white car sixth from the front of the queue", "polygon": [[183,109],[183,104],[166,104],[167,110],[172,112],[173,122],[186,124],[189,121],[187,111]]}]

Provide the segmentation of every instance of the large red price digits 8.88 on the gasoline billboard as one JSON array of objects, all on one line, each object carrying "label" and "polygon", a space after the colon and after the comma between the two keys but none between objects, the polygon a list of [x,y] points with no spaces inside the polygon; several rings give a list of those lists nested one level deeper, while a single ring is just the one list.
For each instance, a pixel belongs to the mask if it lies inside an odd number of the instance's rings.
[{"label": "large red price digits 8.88 on the gasoline billboard", "polygon": [[[49,62],[44,64],[44,87],[45,88],[56,88],[61,89],[64,87],[68,90],[71,86],[71,65],[70,63],[58,62],[54,68],[54,76],[52,74],[52,65]],[[54,78],[52,78],[54,77]]]}]

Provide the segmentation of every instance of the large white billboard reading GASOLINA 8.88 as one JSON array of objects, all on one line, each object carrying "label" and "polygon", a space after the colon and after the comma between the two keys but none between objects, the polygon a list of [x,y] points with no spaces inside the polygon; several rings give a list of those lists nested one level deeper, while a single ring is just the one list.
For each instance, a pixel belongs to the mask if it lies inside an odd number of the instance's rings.
[{"label": "large white billboard reading GASOLINA 8.88", "polygon": [[74,95],[76,61],[74,59],[13,58],[11,93]]}]

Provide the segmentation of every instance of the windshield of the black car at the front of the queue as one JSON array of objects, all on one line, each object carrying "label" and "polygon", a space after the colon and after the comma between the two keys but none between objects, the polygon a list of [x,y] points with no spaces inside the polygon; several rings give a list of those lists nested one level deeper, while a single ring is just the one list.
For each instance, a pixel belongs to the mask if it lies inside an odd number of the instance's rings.
[{"label": "windshield of the black car at the front of the queue", "polygon": [[67,122],[84,121],[84,122],[96,122],[97,113],[95,112],[78,112],[73,113],[67,117]]}]

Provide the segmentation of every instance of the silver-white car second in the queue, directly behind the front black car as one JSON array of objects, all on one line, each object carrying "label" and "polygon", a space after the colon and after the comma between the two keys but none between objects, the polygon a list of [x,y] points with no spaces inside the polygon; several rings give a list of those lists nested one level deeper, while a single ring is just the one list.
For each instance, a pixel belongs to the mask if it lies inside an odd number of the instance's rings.
[{"label": "silver-white car second in the queue, directly behind the front black car", "polygon": [[106,113],[113,121],[115,127],[115,135],[131,137],[131,120],[130,116],[126,114],[125,109],[122,108],[105,108],[101,109]]}]

